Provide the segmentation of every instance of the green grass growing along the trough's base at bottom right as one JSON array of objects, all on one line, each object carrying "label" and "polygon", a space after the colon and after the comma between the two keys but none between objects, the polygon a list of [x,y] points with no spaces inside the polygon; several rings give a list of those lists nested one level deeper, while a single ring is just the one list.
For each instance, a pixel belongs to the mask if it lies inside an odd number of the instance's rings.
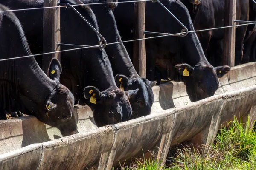
[{"label": "green grass growing along the trough's base at bottom right", "polygon": [[171,159],[168,167],[146,159],[122,170],[256,170],[256,132],[249,129],[248,118],[246,124],[234,119],[219,130],[215,143],[204,147],[204,152],[184,147]]}]

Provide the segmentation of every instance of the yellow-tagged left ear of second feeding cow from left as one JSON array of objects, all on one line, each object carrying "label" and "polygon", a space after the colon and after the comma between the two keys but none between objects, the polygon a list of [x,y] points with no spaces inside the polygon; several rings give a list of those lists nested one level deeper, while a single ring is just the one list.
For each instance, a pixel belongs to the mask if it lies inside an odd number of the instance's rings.
[{"label": "yellow-tagged left ear of second feeding cow from left", "polygon": [[90,99],[90,103],[96,104],[97,99],[102,97],[102,93],[99,91],[98,88],[93,86],[87,86],[84,88],[84,98]]}]

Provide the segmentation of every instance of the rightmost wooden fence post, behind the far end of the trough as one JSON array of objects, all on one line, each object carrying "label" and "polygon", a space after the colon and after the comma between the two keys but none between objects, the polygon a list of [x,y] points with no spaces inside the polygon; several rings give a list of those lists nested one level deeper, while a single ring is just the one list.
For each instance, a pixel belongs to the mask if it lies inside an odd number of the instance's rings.
[{"label": "rightmost wooden fence post, behind the far end of the trough", "polygon": [[[236,0],[225,0],[224,26],[235,25]],[[235,66],[236,27],[224,28],[224,56],[222,65]]]}]

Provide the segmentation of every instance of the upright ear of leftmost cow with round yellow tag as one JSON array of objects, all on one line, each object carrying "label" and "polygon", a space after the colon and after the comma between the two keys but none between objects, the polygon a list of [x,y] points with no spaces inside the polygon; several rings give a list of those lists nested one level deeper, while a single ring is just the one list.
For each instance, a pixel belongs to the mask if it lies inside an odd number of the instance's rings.
[{"label": "upright ear of leftmost cow with round yellow tag", "polygon": [[61,63],[58,61],[58,59],[53,58],[48,69],[48,74],[50,79],[52,80],[60,80],[60,75],[61,75]]}]

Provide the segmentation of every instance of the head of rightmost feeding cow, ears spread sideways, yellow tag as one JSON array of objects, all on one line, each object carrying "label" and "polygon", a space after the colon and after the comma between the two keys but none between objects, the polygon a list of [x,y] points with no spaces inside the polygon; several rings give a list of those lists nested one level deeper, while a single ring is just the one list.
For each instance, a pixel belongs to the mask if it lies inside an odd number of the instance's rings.
[{"label": "head of rightmost feeding cow, ears spread sideways, yellow tag", "polygon": [[178,64],[175,68],[178,68],[179,74],[183,76],[191,102],[213,96],[219,87],[218,77],[230,71],[227,65],[214,68],[212,65],[191,67],[188,64]]}]

